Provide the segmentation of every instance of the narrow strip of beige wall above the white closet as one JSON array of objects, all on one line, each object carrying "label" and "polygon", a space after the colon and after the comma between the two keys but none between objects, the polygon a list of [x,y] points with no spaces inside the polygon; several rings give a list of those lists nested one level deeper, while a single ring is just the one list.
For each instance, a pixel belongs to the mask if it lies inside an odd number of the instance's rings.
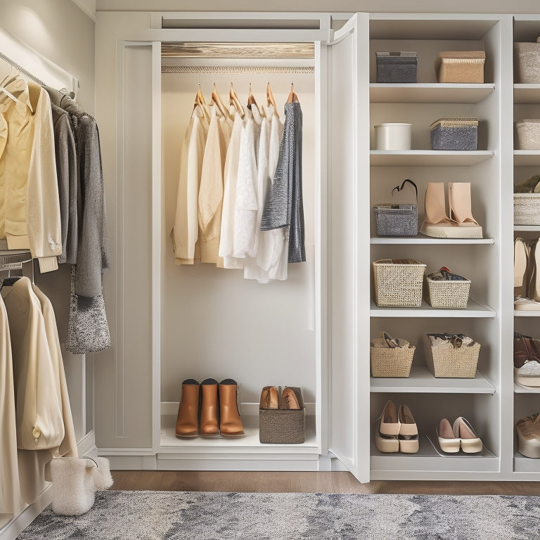
[{"label": "narrow strip of beige wall above the white closet", "polygon": [[364,11],[373,13],[539,13],[538,0],[96,0],[98,11]]}]

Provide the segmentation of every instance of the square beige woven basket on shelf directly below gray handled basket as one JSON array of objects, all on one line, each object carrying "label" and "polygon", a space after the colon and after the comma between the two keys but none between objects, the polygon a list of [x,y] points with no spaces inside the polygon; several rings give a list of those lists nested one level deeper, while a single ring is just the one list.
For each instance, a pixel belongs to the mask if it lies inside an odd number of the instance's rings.
[{"label": "square beige woven basket on shelf directly below gray handled basket", "polygon": [[378,306],[420,307],[425,264],[411,260],[410,264],[392,259],[373,262],[375,303]]}]

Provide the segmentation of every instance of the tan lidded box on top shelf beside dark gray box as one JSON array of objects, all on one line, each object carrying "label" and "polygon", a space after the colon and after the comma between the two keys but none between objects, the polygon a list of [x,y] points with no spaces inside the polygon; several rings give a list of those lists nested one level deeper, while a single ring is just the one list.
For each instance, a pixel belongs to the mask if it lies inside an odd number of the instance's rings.
[{"label": "tan lidded box on top shelf beside dark gray box", "polygon": [[439,82],[484,82],[484,51],[443,51],[435,60]]}]

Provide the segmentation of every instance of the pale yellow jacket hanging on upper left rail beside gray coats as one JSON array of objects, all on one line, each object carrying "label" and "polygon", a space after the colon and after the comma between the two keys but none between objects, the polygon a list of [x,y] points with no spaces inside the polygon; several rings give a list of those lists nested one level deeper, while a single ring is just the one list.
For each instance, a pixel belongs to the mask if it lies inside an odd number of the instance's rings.
[{"label": "pale yellow jacket hanging on upper left rail beside gray coats", "polygon": [[41,272],[56,270],[62,241],[49,94],[20,78],[6,89],[18,101],[0,95],[0,238],[9,249],[30,249]]}]

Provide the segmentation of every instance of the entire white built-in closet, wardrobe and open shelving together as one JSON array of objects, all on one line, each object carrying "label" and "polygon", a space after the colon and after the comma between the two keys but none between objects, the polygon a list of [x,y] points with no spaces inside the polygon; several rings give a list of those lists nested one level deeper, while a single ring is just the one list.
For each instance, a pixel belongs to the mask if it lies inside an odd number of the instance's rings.
[{"label": "entire white built-in closet, wardrobe and open shelving together", "polygon": [[[538,152],[513,150],[514,120],[540,115],[538,87],[513,85],[513,41],[531,39],[539,28],[538,15],[98,13],[96,110],[114,347],[95,364],[95,416],[97,445],[113,467],[346,468],[364,482],[539,479],[538,463],[515,454],[515,420],[537,412],[537,400],[514,389],[512,363],[514,325],[538,335],[537,319],[514,318],[511,292],[513,234],[539,231],[514,229],[510,181],[540,165]],[[274,54],[162,60],[162,43],[219,49],[231,42],[268,44]],[[300,60],[313,74],[271,73],[272,66],[298,66],[297,58],[276,53],[298,43],[314,47],[314,58]],[[377,84],[375,51],[400,50],[418,52],[418,83]],[[484,84],[437,83],[437,54],[455,50],[486,52]],[[192,70],[214,65],[215,74],[162,74],[171,61]],[[269,73],[250,74],[254,61]],[[262,101],[269,80],[283,103],[293,77],[304,114],[307,263],[290,265],[288,281],[269,285],[236,271],[174,266],[169,231],[178,154],[198,82],[208,96],[215,80],[224,97],[232,81],[245,102],[249,82]],[[479,117],[477,150],[430,150],[430,124],[448,116]],[[413,149],[373,150],[373,126],[381,122],[413,124]],[[373,205],[399,201],[401,193],[392,199],[391,191],[406,178],[418,185],[420,221],[428,182],[470,182],[484,238],[376,236]],[[401,257],[470,278],[468,308],[376,307],[371,263]],[[370,378],[368,344],[381,330],[417,345],[410,378]],[[433,331],[480,342],[474,379],[432,377],[421,335]],[[245,438],[174,437],[182,380],[207,377],[240,383]],[[267,384],[303,388],[304,444],[259,444],[257,404]],[[372,443],[387,399],[411,407],[418,454],[381,454]],[[438,454],[435,426],[457,416],[480,433],[482,456]]]}]

